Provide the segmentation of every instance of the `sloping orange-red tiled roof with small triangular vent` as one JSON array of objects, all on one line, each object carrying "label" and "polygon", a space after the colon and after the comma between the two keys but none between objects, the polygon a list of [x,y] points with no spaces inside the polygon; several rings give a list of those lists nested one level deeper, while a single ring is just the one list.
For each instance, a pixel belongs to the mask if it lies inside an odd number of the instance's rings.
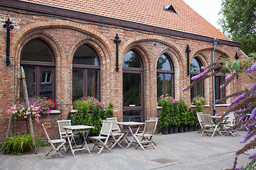
[{"label": "sloping orange-red tiled roof with small triangular vent", "polygon": [[[229,40],[182,0],[23,0]],[[164,11],[172,5],[177,13]]]}]

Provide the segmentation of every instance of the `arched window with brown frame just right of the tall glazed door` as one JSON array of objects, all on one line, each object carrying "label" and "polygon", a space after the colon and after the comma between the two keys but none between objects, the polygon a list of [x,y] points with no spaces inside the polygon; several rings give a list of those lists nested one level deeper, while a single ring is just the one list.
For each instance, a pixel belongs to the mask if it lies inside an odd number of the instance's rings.
[{"label": "arched window with brown frame just right of the tall glazed door", "polygon": [[174,65],[167,55],[161,55],[156,65],[157,96],[174,97]]}]

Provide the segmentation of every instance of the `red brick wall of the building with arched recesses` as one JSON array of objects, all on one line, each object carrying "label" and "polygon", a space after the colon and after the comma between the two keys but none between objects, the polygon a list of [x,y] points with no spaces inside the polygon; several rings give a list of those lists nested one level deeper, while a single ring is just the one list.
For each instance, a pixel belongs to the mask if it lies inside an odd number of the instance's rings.
[{"label": "red brick wall of the building with arched recesses", "polygon": [[[8,15],[7,15],[8,13]],[[24,14],[22,14],[24,13]],[[87,43],[95,49],[100,58],[102,103],[107,106],[110,101],[114,103],[114,114],[122,120],[122,59],[129,50],[135,50],[141,55],[144,64],[144,113],[145,119],[156,116],[156,63],[159,57],[166,52],[174,62],[175,69],[175,97],[185,99],[190,106],[190,92],[181,91],[188,86],[190,80],[186,75],[186,46],[191,47],[191,58],[199,57],[204,66],[210,63],[213,44],[186,38],[151,34],[130,28],[107,26],[101,23],[90,23],[70,18],[57,18],[49,16],[26,15],[28,11],[0,11],[0,20],[4,22],[10,17],[14,23],[11,30],[11,65],[6,67],[6,29],[0,27],[0,141],[6,136],[8,125],[7,110],[14,100],[15,82],[20,67],[21,50],[26,42],[33,38],[45,40],[55,53],[56,61],[56,102],[60,114],[43,115],[41,123],[46,124],[50,137],[58,137],[56,120],[65,119],[72,106],[72,59],[75,50]],[[119,72],[115,71],[114,36],[118,33],[119,44]],[[238,52],[240,58],[245,56],[237,47],[217,45],[215,57],[231,57]],[[250,83],[248,81],[248,83]],[[212,111],[212,81],[205,81],[206,101],[210,104],[207,111]],[[242,84],[244,86],[245,84]],[[236,86],[235,86],[236,87]],[[232,93],[234,86],[229,86],[227,94]],[[228,101],[230,102],[230,101]],[[41,123],[33,123],[36,135],[45,137]],[[12,133],[26,132],[25,123],[16,120],[12,123]]]}]

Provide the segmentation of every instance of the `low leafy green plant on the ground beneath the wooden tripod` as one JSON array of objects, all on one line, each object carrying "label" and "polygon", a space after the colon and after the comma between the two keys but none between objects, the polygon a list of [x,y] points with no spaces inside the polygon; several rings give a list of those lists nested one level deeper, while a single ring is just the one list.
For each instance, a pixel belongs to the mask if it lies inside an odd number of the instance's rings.
[{"label": "low leafy green plant on the ground beneath the wooden tripod", "polygon": [[[35,136],[36,147],[47,145],[45,142]],[[24,148],[33,149],[32,137],[31,135],[15,135],[7,137],[1,144],[1,153],[2,154],[21,154],[25,151]]]}]

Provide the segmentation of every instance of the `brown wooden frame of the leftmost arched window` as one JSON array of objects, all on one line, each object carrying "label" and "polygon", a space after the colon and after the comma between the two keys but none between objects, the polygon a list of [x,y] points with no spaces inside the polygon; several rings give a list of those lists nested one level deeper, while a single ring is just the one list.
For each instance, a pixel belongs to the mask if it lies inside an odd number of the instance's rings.
[{"label": "brown wooden frame of the leftmost arched window", "polygon": [[[32,42],[35,42],[36,40],[42,42],[48,50],[50,51],[50,54],[52,56],[53,62],[36,62],[36,61],[26,61],[22,60],[22,55],[26,47],[31,44]],[[22,51],[21,51],[21,62],[20,62],[21,67],[35,67],[35,96],[40,96],[40,84],[41,84],[41,79],[40,79],[40,68],[41,67],[49,67],[53,69],[53,74],[51,75],[52,77],[52,86],[53,86],[53,99],[55,100],[55,55],[53,52],[53,49],[48,45],[47,42],[42,40],[41,38],[35,38],[33,40],[30,40],[29,42],[24,45]]]}]

